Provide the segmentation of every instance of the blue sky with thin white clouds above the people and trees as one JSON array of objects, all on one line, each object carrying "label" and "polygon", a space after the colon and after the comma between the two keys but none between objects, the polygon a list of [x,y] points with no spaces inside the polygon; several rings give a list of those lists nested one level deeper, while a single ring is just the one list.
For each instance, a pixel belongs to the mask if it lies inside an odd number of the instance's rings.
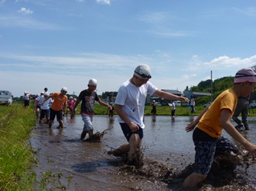
[{"label": "blue sky with thin white clouds above the people and trees", "polygon": [[254,0],[0,0],[0,88],[118,91],[139,64],[183,91],[256,65]]}]

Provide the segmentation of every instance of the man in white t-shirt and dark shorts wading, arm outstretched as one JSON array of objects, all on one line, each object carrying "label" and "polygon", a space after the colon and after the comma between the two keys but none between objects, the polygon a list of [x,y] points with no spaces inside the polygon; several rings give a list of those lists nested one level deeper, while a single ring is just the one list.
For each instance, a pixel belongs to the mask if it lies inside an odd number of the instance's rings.
[{"label": "man in white t-shirt and dark shorts wading, arm outstretched", "polygon": [[118,90],[115,99],[115,112],[118,113],[118,123],[128,142],[119,148],[109,151],[108,154],[128,153],[128,164],[134,164],[135,152],[139,151],[142,145],[144,129],[144,104],[147,94],[161,97],[167,100],[185,100],[186,97],[170,94],[166,91],[160,91],[150,81],[151,69],[148,65],[138,65],[133,76]]}]

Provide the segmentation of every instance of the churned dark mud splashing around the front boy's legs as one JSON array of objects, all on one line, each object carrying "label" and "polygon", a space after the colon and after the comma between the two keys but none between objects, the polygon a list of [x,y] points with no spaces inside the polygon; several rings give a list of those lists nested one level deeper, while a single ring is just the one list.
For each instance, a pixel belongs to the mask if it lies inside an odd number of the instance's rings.
[{"label": "churned dark mud splashing around the front boy's legs", "polygon": [[[147,183],[152,183],[151,190],[166,190],[163,188],[164,184],[170,190],[241,190],[241,188],[242,190],[255,190],[256,188],[255,185],[249,183],[249,177],[245,176],[246,169],[256,162],[246,151],[241,155],[233,153],[216,155],[209,176],[194,189],[185,189],[182,186],[186,177],[193,173],[193,164],[183,170],[178,170],[168,164],[152,161],[150,158],[144,158],[140,162],[143,164],[141,166],[127,165],[125,158],[123,161],[119,167],[122,176],[129,176],[131,181],[147,180]],[[238,169],[238,166],[241,168]],[[138,186],[135,190],[147,189]]]}]

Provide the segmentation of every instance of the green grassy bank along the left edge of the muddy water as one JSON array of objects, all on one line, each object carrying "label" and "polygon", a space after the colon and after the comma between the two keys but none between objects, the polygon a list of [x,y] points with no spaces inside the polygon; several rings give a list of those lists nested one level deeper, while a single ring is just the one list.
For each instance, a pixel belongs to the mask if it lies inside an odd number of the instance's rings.
[{"label": "green grassy bank along the left edge of the muddy water", "polygon": [[0,190],[34,190],[36,160],[27,142],[34,124],[31,108],[0,107]]}]

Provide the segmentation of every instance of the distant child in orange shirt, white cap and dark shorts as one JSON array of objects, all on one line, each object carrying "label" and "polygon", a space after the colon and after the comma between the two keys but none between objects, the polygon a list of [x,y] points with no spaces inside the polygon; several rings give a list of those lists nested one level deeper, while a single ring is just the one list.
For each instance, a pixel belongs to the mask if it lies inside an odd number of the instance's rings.
[{"label": "distant child in orange shirt, white cap and dark shorts", "polygon": [[53,120],[55,119],[55,116],[57,116],[57,120],[60,123],[60,126],[58,128],[63,128],[63,111],[66,110],[66,104],[67,104],[67,88],[63,87],[60,90],[60,93],[53,93],[41,103],[42,105],[44,102],[50,98],[52,98],[54,101],[50,106],[50,120],[49,120],[49,128],[53,125]]}]

